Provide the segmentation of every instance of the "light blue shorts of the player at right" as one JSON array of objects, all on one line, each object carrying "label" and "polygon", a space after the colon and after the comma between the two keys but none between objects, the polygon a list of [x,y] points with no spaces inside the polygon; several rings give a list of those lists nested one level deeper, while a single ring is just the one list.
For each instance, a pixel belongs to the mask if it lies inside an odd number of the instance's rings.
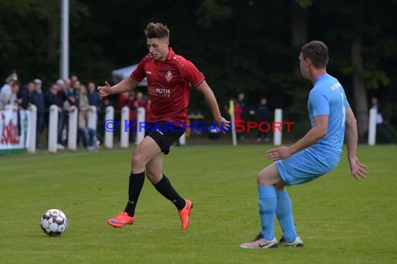
[{"label": "light blue shorts of the player at right", "polygon": [[281,179],[290,186],[313,181],[334,170],[339,158],[334,154],[326,157],[308,148],[289,158],[277,160],[276,165]]}]

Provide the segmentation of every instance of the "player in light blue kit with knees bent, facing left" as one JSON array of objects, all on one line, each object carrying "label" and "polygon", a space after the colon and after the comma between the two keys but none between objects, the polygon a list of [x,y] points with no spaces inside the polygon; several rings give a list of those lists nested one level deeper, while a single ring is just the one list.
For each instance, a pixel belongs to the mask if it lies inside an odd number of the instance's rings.
[{"label": "player in light blue kit with knees bent, facing left", "polygon": [[[284,187],[313,181],[333,170],[342,155],[346,135],[350,173],[359,181],[366,176],[366,165],[359,162],[357,122],[341,83],[327,74],[328,48],[320,41],[305,44],[299,54],[302,76],[313,83],[308,100],[311,129],[290,147],[267,151],[275,160],[257,175],[259,214],[262,230],[242,248],[302,247],[304,242],[295,230],[292,206]],[[274,237],[277,215],[283,237]]]}]

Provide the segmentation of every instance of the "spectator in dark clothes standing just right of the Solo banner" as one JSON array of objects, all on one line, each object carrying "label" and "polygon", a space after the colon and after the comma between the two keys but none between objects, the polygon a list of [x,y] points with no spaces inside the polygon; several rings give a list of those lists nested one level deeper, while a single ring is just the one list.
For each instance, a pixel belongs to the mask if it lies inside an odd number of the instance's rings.
[{"label": "spectator in dark clothes standing just right of the Solo banner", "polygon": [[42,131],[44,130],[44,94],[42,93],[42,81],[40,79],[33,80],[34,92],[31,104],[34,104],[37,108],[37,119],[36,119],[36,147],[40,149],[40,138]]}]

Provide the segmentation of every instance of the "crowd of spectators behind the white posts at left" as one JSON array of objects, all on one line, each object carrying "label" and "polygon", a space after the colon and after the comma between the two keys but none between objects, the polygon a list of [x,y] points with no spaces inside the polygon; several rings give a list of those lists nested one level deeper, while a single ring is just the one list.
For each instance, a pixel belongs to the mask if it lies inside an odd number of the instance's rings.
[{"label": "crowd of spectators behind the white posts at left", "polygon": [[[49,126],[49,107],[58,106],[58,142],[57,149],[64,149],[67,140],[68,117],[69,113],[79,110],[77,124],[77,145],[88,150],[96,150],[100,144],[100,136],[97,129],[88,127],[88,113],[95,106],[98,113],[99,123],[104,121],[107,106],[111,105],[109,98],[99,97],[97,86],[92,81],[86,85],[79,81],[75,75],[67,79],[59,79],[51,83],[48,88],[42,87],[40,79],[33,79],[21,85],[17,72],[13,72],[7,77],[0,90],[0,110],[7,105],[15,106],[19,109],[28,109],[35,105],[37,108],[36,123],[36,147],[42,148],[42,133]],[[72,106],[75,106],[72,107]],[[146,99],[142,92],[130,92],[120,94],[118,97],[118,109],[123,106],[130,108],[130,120],[137,119],[137,109],[146,109],[146,115],[150,111],[150,100]],[[47,130],[48,131],[48,130]],[[134,133],[130,133],[130,140],[134,140]]]}]

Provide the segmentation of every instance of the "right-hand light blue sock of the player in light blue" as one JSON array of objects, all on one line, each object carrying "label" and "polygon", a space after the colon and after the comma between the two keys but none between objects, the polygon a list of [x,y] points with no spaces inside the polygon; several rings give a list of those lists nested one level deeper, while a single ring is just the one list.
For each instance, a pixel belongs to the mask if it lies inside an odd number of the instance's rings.
[{"label": "right-hand light blue sock of the player in light blue", "polygon": [[297,231],[294,224],[293,206],[286,190],[277,192],[276,215],[281,229],[283,229],[284,240],[293,242],[297,237]]}]

